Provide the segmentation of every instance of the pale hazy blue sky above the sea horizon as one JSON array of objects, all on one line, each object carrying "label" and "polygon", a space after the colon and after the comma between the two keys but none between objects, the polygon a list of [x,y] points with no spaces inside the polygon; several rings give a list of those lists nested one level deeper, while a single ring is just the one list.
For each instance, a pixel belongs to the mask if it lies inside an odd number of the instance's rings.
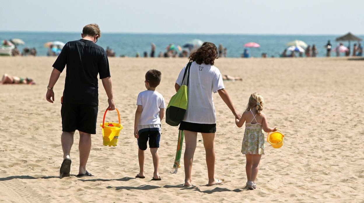
[{"label": "pale hazy blue sky above the sea horizon", "polygon": [[[1,0],[0,31],[364,34],[364,0]],[[6,20],[5,20],[6,19]]]}]

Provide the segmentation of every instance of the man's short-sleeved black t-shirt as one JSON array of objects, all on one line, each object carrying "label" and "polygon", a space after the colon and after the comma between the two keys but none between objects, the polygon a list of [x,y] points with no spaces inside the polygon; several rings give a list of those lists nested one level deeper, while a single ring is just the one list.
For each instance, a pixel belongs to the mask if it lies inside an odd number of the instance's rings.
[{"label": "man's short-sleeved black t-shirt", "polygon": [[60,72],[66,68],[63,103],[98,105],[98,78],[110,77],[105,50],[90,40],[67,42],[53,67]]}]

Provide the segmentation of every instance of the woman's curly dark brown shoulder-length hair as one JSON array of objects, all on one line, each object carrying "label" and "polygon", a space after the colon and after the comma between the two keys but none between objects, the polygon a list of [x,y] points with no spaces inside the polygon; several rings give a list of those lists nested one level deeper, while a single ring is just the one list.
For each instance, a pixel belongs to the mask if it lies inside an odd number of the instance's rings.
[{"label": "woman's curly dark brown shoulder-length hair", "polygon": [[202,63],[214,65],[214,61],[217,57],[217,47],[214,43],[203,42],[203,44],[194,52],[191,52],[188,59],[190,62],[196,61],[197,64]]}]

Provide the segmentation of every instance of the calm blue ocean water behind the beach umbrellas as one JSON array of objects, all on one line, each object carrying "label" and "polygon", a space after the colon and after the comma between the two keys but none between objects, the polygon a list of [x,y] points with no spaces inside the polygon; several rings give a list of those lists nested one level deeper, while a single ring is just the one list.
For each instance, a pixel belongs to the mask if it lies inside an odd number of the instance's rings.
[{"label": "calm blue ocean water behind the beach umbrellas", "polygon": [[[345,33],[343,33],[345,34]],[[125,55],[135,57],[139,52],[150,53],[150,43],[156,45],[155,55],[159,52],[165,52],[166,47],[174,43],[182,46],[187,41],[200,39],[202,41],[213,42],[218,46],[222,44],[227,48],[227,57],[240,57],[244,52],[243,45],[247,42],[257,42],[260,48],[250,48],[250,56],[261,57],[262,53],[267,53],[268,57],[278,57],[286,48],[285,44],[293,40],[302,40],[308,45],[315,44],[318,50],[318,57],[323,57],[326,54],[324,45],[327,40],[331,41],[333,46],[337,42],[337,35],[258,35],[258,34],[134,34],[134,33],[102,33],[102,37],[97,44],[106,49],[110,46],[116,53],[116,56]],[[364,38],[364,36],[358,36]],[[47,48],[43,44],[48,41],[67,41],[78,40],[81,38],[80,33],[52,33],[52,32],[0,32],[0,40],[20,38],[25,42],[25,45],[19,45],[21,51],[25,46],[37,49],[37,56],[46,56]],[[351,42],[351,47],[354,43]],[[348,42],[344,42],[348,46]],[[343,53],[341,53],[343,55]],[[335,53],[332,53],[335,56]]]}]

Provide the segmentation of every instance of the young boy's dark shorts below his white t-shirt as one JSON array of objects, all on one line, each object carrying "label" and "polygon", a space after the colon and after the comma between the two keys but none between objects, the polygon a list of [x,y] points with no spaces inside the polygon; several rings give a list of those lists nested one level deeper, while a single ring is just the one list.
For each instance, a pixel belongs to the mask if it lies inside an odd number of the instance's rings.
[{"label": "young boy's dark shorts below his white t-shirt", "polygon": [[159,141],[161,140],[161,129],[158,128],[144,128],[138,131],[138,147],[141,150],[147,149],[147,142],[149,139],[149,148],[159,148]]}]

